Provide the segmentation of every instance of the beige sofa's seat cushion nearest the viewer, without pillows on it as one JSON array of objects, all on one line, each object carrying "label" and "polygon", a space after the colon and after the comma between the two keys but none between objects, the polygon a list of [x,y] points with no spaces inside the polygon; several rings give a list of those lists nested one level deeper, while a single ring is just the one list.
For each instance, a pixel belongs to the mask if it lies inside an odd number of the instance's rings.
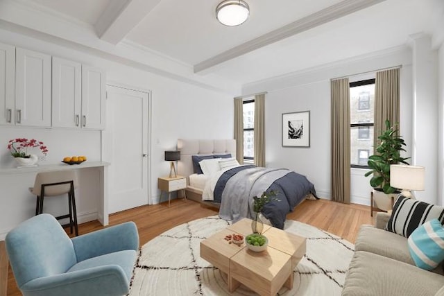
[{"label": "beige sofa's seat cushion nearest the viewer, without pillows on it", "polygon": [[350,262],[342,295],[435,295],[443,284],[442,275],[384,256],[358,251]]}]

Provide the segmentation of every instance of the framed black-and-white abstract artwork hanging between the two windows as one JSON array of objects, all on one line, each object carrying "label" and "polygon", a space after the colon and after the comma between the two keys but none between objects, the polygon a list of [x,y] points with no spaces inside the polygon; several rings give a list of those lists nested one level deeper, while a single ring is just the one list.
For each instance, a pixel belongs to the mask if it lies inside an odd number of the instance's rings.
[{"label": "framed black-and-white abstract artwork hanging between the two windows", "polygon": [[310,112],[282,113],[282,147],[310,147]]}]

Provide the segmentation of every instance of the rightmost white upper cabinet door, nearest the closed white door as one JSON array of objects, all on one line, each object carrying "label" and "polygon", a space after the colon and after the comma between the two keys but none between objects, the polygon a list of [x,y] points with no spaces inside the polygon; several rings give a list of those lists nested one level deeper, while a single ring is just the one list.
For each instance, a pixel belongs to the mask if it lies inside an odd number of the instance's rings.
[{"label": "rightmost white upper cabinet door, nearest the closed white door", "polygon": [[105,72],[82,65],[82,128],[105,128]]}]

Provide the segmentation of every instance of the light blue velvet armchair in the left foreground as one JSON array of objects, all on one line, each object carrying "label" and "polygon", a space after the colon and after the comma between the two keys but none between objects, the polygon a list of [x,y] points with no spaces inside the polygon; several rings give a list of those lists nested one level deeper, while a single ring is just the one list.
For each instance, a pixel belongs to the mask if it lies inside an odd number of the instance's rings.
[{"label": "light blue velvet armchair in the left foreground", "polygon": [[133,222],[71,239],[49,214],[24,221],[5,241],[25,296],[126,295],[139,247]]}]

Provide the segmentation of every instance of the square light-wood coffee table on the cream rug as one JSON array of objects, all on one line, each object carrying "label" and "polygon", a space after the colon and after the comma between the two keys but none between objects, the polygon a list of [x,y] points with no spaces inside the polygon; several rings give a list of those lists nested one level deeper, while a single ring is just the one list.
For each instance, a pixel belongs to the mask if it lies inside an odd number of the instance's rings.
[{"label": "square light-wood coffee table on the cream rug", "polygon": [[251,220],[244,218],[200,242],[200,257],[225,272],[228,289],[244,284],[259,295],[276,295],[282,286],[293,288],[293,270],[305,254],[306,239],[264,225],[268,247],[264,252],[248,250],[225,241],[228,234],[251,234]]}]

